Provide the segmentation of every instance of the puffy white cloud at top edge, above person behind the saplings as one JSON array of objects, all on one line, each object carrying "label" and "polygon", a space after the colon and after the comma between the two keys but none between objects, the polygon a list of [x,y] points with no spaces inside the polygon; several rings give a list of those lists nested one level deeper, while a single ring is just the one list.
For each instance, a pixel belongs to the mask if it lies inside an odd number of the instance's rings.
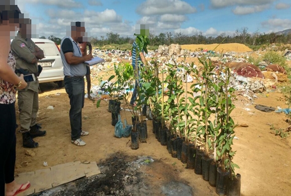
[{"label": "puffy white cloud at top edge, above person behind the saplings", "polygon": [[183,0],[146,0],[136,12],[141,15],[189,14],[196,12],[196,8]]}]

